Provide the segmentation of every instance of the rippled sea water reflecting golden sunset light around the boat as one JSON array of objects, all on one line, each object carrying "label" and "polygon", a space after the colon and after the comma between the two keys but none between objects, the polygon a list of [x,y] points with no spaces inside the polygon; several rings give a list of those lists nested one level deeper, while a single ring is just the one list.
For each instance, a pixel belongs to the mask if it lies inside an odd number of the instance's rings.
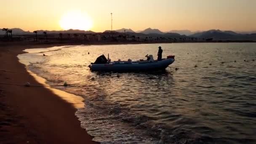
[{"label": "rippled sea water reflecting golden sunset light around the boat", "polygon": [[[157,59],[158,46],[163,58],[176,58],[164,72],[117,77],[88,67],[108,53],[112,61],[145,59],[146,54]],[[29,70],[52,87],[85,99],[85,108],[76,115],[95,141],[256,143],[256,43],[81,45],[27,51],[18,57]],[[64,82],[71,85],[57,86]]]}]

